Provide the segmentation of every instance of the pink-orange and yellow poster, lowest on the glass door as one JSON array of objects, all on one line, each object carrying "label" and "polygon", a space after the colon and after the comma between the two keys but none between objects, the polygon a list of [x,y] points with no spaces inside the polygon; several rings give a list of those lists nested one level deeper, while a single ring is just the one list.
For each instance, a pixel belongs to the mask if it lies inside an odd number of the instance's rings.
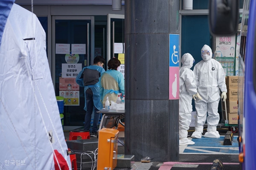
[{"label": "pink-orange and yellow poster, lowest on the glass door", "polygon": [[66,98],[64,105],[79,106],[79,85],[76,78],[59,78],[59,96]]}]

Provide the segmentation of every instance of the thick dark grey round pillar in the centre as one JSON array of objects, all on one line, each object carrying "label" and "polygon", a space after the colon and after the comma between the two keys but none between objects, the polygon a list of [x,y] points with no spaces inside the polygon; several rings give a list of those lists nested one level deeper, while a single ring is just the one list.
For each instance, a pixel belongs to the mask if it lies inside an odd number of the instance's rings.
[{"label": "thick dark grey round pillar in the centre", "polygon": [[179,7],[125,0],[125,154],[136,161],[179,159],[179,101],[169,100],[169,34],[179,34]]}]

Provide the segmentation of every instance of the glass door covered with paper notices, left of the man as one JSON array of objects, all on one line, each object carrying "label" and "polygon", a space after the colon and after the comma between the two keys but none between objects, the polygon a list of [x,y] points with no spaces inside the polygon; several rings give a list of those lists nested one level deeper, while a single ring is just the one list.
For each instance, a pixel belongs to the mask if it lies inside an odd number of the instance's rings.
[{"label": "glass door covered with paper notices, left of the man", "polygon": [[64,126],[84,124],[84,88],[75,79],[91,62],[92,21],[89,16],[52,18],[52,79],[55,95],[66,99]]}]

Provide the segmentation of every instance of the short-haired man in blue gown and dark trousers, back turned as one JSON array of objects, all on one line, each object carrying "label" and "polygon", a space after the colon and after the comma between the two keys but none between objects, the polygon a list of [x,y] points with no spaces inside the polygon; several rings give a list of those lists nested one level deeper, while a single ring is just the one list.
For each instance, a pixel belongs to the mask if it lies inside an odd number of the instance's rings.
[{"label": "short-haired man in blue gown and dark trousers, back turned", "polygon": [[105,59],[102,56],[97,56],[93,60],[93,65],[84,67],[76,77],[76,83],[84,87],[85,93],[85,106],[86,111],[84,118],[84,130],[90,130],[91,114],[94,109],[93,128],[91,129],[90,136],[97,137],[98,122],[100,114],[97,111],[103,108],[101,103],[101,90],[99,86],[99,78],[105,72],[103,65]]}]

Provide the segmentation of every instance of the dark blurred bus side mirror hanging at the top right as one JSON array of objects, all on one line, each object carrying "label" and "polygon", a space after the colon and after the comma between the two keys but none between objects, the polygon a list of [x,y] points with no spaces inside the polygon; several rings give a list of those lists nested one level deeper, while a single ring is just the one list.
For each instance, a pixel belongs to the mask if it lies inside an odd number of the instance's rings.
[{"label": "dark blurred bus side mirror hanging at the top right", "polygon": [[237,32],[239,0],[209,0],[209,29],[214,36]]}]

